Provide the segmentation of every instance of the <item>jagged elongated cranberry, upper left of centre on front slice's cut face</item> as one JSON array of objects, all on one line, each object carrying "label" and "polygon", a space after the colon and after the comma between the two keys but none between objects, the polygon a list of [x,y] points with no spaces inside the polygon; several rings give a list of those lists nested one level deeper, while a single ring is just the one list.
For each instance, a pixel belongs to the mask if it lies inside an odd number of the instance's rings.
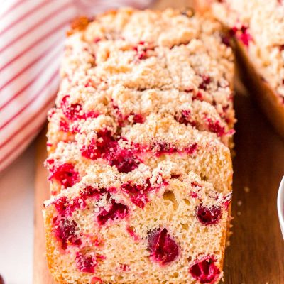
[{"label": "jagged elongated cranberry, upper left of centre on front slice's cut face", "polygon": [[109,211],[102,209],[102,212],[97,216],[97,221],[100,225],[107,223],[107,220],[124,219],[129,214],[129,207],[124,204],[112,202]]}]

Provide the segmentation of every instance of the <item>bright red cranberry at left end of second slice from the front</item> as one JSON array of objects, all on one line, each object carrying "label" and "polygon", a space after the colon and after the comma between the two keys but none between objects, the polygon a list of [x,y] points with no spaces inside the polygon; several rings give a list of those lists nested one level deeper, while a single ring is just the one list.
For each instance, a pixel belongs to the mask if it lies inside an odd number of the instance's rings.
[{"label": "bright red cranberry at left end of second slice from the front", "polygon": [[62,165],[54,165],[50,170],[51,179],[58,180],[63,187],[72,187],[76,182],[80,180],[79,173],[75,170],[74,165],[71,163],[64,163]]}]

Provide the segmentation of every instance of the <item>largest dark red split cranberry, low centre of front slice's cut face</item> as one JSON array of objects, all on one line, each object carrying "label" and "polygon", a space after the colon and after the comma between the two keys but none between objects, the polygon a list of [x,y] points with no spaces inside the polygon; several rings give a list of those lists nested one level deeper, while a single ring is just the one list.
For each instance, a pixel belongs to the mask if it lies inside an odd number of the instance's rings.
[{"label": "largest dark red split cranberry, low centre of front slice's cut face", "polygon": [[168,234],[167,229],[153,229],[148,234],[148,249],[151,257],[160,264],[174,261],[178,256],[178,244]]}]

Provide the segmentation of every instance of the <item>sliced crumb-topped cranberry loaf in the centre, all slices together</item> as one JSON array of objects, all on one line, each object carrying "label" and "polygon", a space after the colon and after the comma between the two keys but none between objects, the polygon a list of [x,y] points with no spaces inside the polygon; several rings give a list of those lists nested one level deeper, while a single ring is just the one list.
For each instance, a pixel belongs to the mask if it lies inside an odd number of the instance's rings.
[{"label": "sliced crumb-topped cranberry loaf in the centre, all slices together", "polygon": [[48,116],[58,283],[218,283],[229,220],[231,48],[211,14],[80,18]]}]

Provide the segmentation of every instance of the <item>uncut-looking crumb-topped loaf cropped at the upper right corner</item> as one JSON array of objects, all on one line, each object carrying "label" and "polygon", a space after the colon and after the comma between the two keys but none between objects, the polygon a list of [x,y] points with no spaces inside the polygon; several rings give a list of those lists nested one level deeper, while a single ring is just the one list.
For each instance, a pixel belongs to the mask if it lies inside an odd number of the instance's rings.
[{"label": "uncut-looking crumb-topped loaf cropped at the upper right corner", "polygon": [[284,137],[284,2],[209,0],[209,4],[235,38],[241,77]]}]

